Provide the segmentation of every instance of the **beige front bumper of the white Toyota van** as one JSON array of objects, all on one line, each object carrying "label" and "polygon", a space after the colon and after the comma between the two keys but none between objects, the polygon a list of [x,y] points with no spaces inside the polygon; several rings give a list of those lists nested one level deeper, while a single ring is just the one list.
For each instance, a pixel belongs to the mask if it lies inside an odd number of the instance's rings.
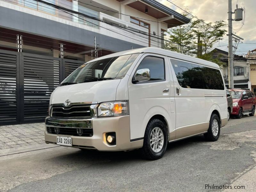
[{"label": "beige front bumper of the white Toyota van", "polygon": [[[47,132],[47,126],[69,128],[92,128],[93,136],[71,136],[72,147],[97,149],[99,151],[125,151],[141,148],[143,140],[130,141],[130,116],[100,117],[92,119],[57,119],[46,117],[45,142],[57,144],[57,136],[69,136],[63,134],[51,134]],[[116,145],[110,145],[106,141],[108,132],[116,133]]]}]

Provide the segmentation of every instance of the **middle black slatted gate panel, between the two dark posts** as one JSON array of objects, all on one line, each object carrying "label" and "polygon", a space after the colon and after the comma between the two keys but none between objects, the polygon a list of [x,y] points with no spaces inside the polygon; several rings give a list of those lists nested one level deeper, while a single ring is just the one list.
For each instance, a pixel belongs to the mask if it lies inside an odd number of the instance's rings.
[{"label": "middle black slatted gate panel, between the two dark posts", "polygon": [[60,60],[24,55],[24,122],[44,121],[51,93],[60,84]]}]

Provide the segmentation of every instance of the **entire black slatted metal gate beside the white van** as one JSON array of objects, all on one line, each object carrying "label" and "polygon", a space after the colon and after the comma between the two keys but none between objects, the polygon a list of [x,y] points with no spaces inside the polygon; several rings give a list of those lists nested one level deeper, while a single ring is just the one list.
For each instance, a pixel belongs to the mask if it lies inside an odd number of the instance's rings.
[{"label": "entire black slatted metal gate beside the white van", "polygon": [[43,122],[52,91],[83,63],[0,50],[0,125]]}]

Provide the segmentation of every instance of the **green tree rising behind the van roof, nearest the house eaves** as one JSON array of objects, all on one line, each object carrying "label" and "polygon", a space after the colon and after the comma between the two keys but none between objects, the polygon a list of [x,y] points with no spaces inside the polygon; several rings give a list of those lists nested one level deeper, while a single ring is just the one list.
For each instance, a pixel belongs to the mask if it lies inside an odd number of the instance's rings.
[{"label": "green tree rising behind the van roof, nearest the house eaves", "polygon": [[[185,11],[191,13],[188,8]],[[190,20],[192,16],[187,12],[181,13]],[[194,49],[194,35],[192,31],[192,22],[190,21],[186,25],[181,25],[168,29],[167,34],[169,38],[165,41],[164,47],[170,51],[191,55],[191,51]]]}]

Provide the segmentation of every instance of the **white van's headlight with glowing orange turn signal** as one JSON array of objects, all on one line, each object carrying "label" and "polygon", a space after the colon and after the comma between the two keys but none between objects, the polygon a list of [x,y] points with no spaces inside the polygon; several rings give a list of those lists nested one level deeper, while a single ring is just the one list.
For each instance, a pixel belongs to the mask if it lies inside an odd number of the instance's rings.
[{"label": "white van's headlight with glowing orange turn signal", "polygon": [[129,115],[128,101],[109,101],[100,103],[98,117]]}]

